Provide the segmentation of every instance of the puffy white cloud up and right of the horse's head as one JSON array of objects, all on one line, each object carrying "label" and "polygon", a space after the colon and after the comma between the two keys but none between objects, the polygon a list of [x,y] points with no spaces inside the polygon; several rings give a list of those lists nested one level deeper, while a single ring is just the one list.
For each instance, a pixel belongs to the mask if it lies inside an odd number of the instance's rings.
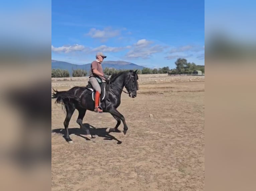
[{"label": "puffy white cloud up and right of the horse's head", "polygon": [[162,52],[164,50],[164,47],[160,45],[154,45],[153,41],[148,41],[146,39],[140,39],[138,40],[131,48],[133,48],[131,51],[129,51],[125,57],[126,58],[149,58],[152,54]]}]

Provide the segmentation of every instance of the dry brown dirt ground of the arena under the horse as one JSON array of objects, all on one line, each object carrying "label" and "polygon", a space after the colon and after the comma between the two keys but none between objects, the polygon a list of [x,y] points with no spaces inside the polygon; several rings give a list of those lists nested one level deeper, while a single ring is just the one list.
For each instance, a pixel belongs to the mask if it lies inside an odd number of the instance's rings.
[{"label": "dry brown dirt ground of the arena under the horse", "polygon": [[52,100],[52,191],[204,190],[204,90],[204,81],[151,83],[134,99],[122,94],[126,135],[105,133],[116,125],[110,113],[87,111],[83,123],[95,135],[88,140],[76,110],[74,144],[62,137],[65,113]]}]

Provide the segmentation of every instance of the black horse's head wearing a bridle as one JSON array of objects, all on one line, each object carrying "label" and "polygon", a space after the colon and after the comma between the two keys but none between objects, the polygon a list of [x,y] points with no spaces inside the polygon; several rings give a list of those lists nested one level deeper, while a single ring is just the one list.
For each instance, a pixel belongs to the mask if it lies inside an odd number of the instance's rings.
[{"label": "black horse's head wearing a bridle", "polygon": [[135,71],[130,71],[127,73],[126,77],[125,77],[125,85],[124,87],[126,88],[129,97],[136,97],[137,96],[137,90],[139,90],[139,85],[138,85],[138,74],[137,74],[137,70]]}]

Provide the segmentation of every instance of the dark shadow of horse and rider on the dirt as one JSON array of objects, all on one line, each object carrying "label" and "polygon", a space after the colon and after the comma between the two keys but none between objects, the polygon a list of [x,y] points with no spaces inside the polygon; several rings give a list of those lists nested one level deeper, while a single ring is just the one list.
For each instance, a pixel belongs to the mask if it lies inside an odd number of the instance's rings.
[{"label": "dark shadow of horse and rider on the dirt", "polygon": [[[114,136],[112,136],[108,132],[106,132],[107,128],[95,128],[94,126],[90,125],[89,123],[83,123],[83,125],[89,129],[92,136],[97,135],[99,137],[104,137],[104,140],[116,140],[117,144],[122,143],[122,141],[118,140],[117,138],[115,138]],[[65,136],[66,136],[66,130],[64,128],[52,129],[51,132],[63,134],[63,138],[65,138]],[[121,131],[118,131],[118,132],[121,132]],[[86,140],[91,140],[91,139],[83,136],[86,134],[86,131],[84,130],[84,128],[69,128],[69,134],[70,135],[75,134],[75,135],[80,136]],[[95,137],[93,136],[93,138],[95,138]]]}]

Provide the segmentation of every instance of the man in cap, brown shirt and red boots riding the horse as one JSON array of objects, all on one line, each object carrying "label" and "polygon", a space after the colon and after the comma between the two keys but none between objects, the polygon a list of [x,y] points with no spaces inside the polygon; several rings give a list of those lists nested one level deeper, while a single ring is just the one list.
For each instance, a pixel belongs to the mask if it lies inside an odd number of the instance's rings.
[{"label": "man in cap, brown shirt and red boots riding the horse", "polygon": [[96,54],[96,60],[92,62],[91,64],[91,70],[90,70],[90,82],[92,84],[93,89],[96,91],[95,93],[95,107],[94,111],[97,113],[102,113],[102,108],[99,106],[100,102],[100,95],[101,95],[101,87],[99,83],[102,83],[103,80],[109,80],[110,76],[105,75],[103,73],[103,69],[101,66],[101,63],[103,60],[107,58],[103,53],[98,52]]}]

